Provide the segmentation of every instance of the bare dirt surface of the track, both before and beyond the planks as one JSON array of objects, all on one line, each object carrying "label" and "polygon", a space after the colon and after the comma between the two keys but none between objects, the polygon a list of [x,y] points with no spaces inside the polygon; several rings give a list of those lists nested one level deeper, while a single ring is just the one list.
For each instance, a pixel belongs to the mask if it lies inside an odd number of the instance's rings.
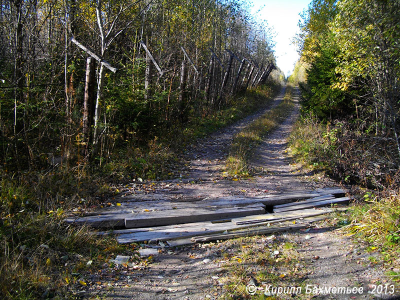
[{"label": "bare dirt surface of the track, both before and beyond the planks", "polygon": [[[277,105],[284,94],[284,89],[274,99],[272,105]],[[187,178],[167,180],[153,184],[150,198],[173,198],[190,200],[223,197],[230,195],[254,196],[281,192],[310,190],[326,185],[334,185],[325,178],[315,178],[305,173],[301,166],[293,163],[287,151],[287,138],[298,116],[298,91],[295,93],[295,109],[273,132],[264,138],[254,152],[252,165],[259,175],[247,180],[232,180],[223,178],[221,170],[224,157],[227,155],[230,139],[235,132],[245,124],[254,120],[266,111],[259,111],[244,120],[213,134],[210,138],[200,141],[190,152],[191,158],[187,169]],[[312,178],[312,180],[311,180]],[[319,182],[318,182],[319,181]],[[144,183],[144,182],[143,182]],[[147,191],[148,192],[148,191]],[[143,193],[134,193],[127,197],[143,197]],[[271,238],[273,237],[273,238]],[[142,299],[142,300],[199,300],[229,298],[234,291],[227,291],[224,284],[232,280],[229,261],[237,263],[237,267],[247,272],[245,280],[253,276],[251,269],[254,262],[243,258],[244,248],[250,248],[252,255],[269,251],[272,247],[284,243],[292,244],[298,263],[295,273],[302,274],[306,284],[311,287],[332,286],[364,286],[363,294],[328,294],[328,295],[280,295],[279,299],[372,299],[366,293],[366,287],[373,280],[381,277],[382,270],[377,265],[368,264],[368,255],[362,251],[361,243],[354,242],[337,229],[332,222],[321,221],[315,228],[294,233],[281,233],[266,237],[254,236],[240,240],[235,245],[234,240],[193,244],[181,247],[163,249],[154,256],[154,262],[144,269],[122,271],[118,274],[117,283],[106,293],[107,300]],[[244,244],[243,244],[244,243]],[[268,248],[269,247],[269,248]],[[281,250],[284,255],[285,250]],[[273,254],[271,254],[273,255]],[[239,257],[239,259],[238,259]],[[242,257],[242,258],[240,258]],[[250,261],[250,262],[249,262]],[[361,263],[360,263],[361,262]],[[283,274],[291,272],[289,265],[276,263],[273,265],[256,265],[257,269],[265,269],[266,273]],[[296,282],[282,279],[273,286],[295,286]],[[302,282],[302,281],[301,281]],[[233,282],[233,285],[246,282]],[[257,282],[265,287],[265,283]],[[235,288],[233,288],[235,289]],[[257,292],[262,293],[260,290]],[[245,296],[244,294],[242,294]],[[261,295],[259,295],[261,296]],[[233,296],[235,298],[236,296]],[[245,298],[250,296],[246,295]],[[244,297],[238,297],[244,298]],[[259,297],[257,297],[259,298]]]}]

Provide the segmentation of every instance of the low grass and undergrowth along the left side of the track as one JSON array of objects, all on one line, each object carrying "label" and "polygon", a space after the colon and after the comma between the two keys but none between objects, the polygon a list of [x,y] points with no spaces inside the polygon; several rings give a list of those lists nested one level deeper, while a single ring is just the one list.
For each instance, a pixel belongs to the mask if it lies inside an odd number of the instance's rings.
[{"label": "low grass and undergrowth along the left side of the track", "polygon": [[[114,239],[89,234],[62,219],[72,209],[85,211],[117,192],[113,182],[134,178],[173,177],[185,145],[267,104],[280,86],[248,90],[232,97],[226,108],[189,120],[163,138],[142,147],[121,147],[97,167],[61,164],[13,172],[0,179],[0,295],[4,299],[77,298],[93,273],[116,254],[146,260],[134,253],[137,245],[117,245]],[[99,160],[101,162],[101,159]]]}]

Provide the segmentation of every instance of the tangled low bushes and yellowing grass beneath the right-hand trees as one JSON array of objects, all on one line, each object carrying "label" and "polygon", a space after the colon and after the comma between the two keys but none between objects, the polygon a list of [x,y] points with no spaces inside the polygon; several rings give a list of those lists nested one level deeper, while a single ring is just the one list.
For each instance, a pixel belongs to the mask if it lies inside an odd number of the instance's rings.
[{"label": "tangled low bushes and yellowing grass beneath the right-hand trees", "polygon": [[[289,138],[292,154],[315,172],[351,187],[357,201],[346,214],[345,229],[362,236],[369,250],[400,280],[400,182],[395,141],[359,129],[356,120],[323,122],[312,115],[297,121]],[[349,223],[349,224],[348,224]]]}]

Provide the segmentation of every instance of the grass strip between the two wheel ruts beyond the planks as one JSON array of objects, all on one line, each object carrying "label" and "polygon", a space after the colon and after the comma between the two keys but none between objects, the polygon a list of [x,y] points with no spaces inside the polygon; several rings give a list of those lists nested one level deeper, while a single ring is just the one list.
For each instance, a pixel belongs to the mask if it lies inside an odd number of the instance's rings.
[{"label": "grass strip between the two wheel ruts beyond the planks", "polygon": [[232,177],[247,177],[251,173],[249,158],[262,137],[273,130],[293,108],[292,87],[287,86],[283,101],[243,130],[234,135],[226,159],[226,172]]}]

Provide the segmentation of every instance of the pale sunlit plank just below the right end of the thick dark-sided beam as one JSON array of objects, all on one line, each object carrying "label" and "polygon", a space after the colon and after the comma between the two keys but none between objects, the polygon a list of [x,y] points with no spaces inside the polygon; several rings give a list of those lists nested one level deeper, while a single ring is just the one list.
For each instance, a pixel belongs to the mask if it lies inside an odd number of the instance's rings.
[{"label": "pale sunlit plank just below the right end of the thick dark-sided beam", "polygon": [[260,222],[270,222],[276,220],[289,220],[296,219],[300,217],[309,217],[316,216],[325,213],[329,213],[332,210],[330,209],[301,209],[298,211],[287,211],[287,212],[276,212],[276,213],[268,213],[268,214],[259,214],[259,215],[251,215],[247,217],[233,218],[231,220],[232,223],[236,225],[242,224],[255,224]]}]

